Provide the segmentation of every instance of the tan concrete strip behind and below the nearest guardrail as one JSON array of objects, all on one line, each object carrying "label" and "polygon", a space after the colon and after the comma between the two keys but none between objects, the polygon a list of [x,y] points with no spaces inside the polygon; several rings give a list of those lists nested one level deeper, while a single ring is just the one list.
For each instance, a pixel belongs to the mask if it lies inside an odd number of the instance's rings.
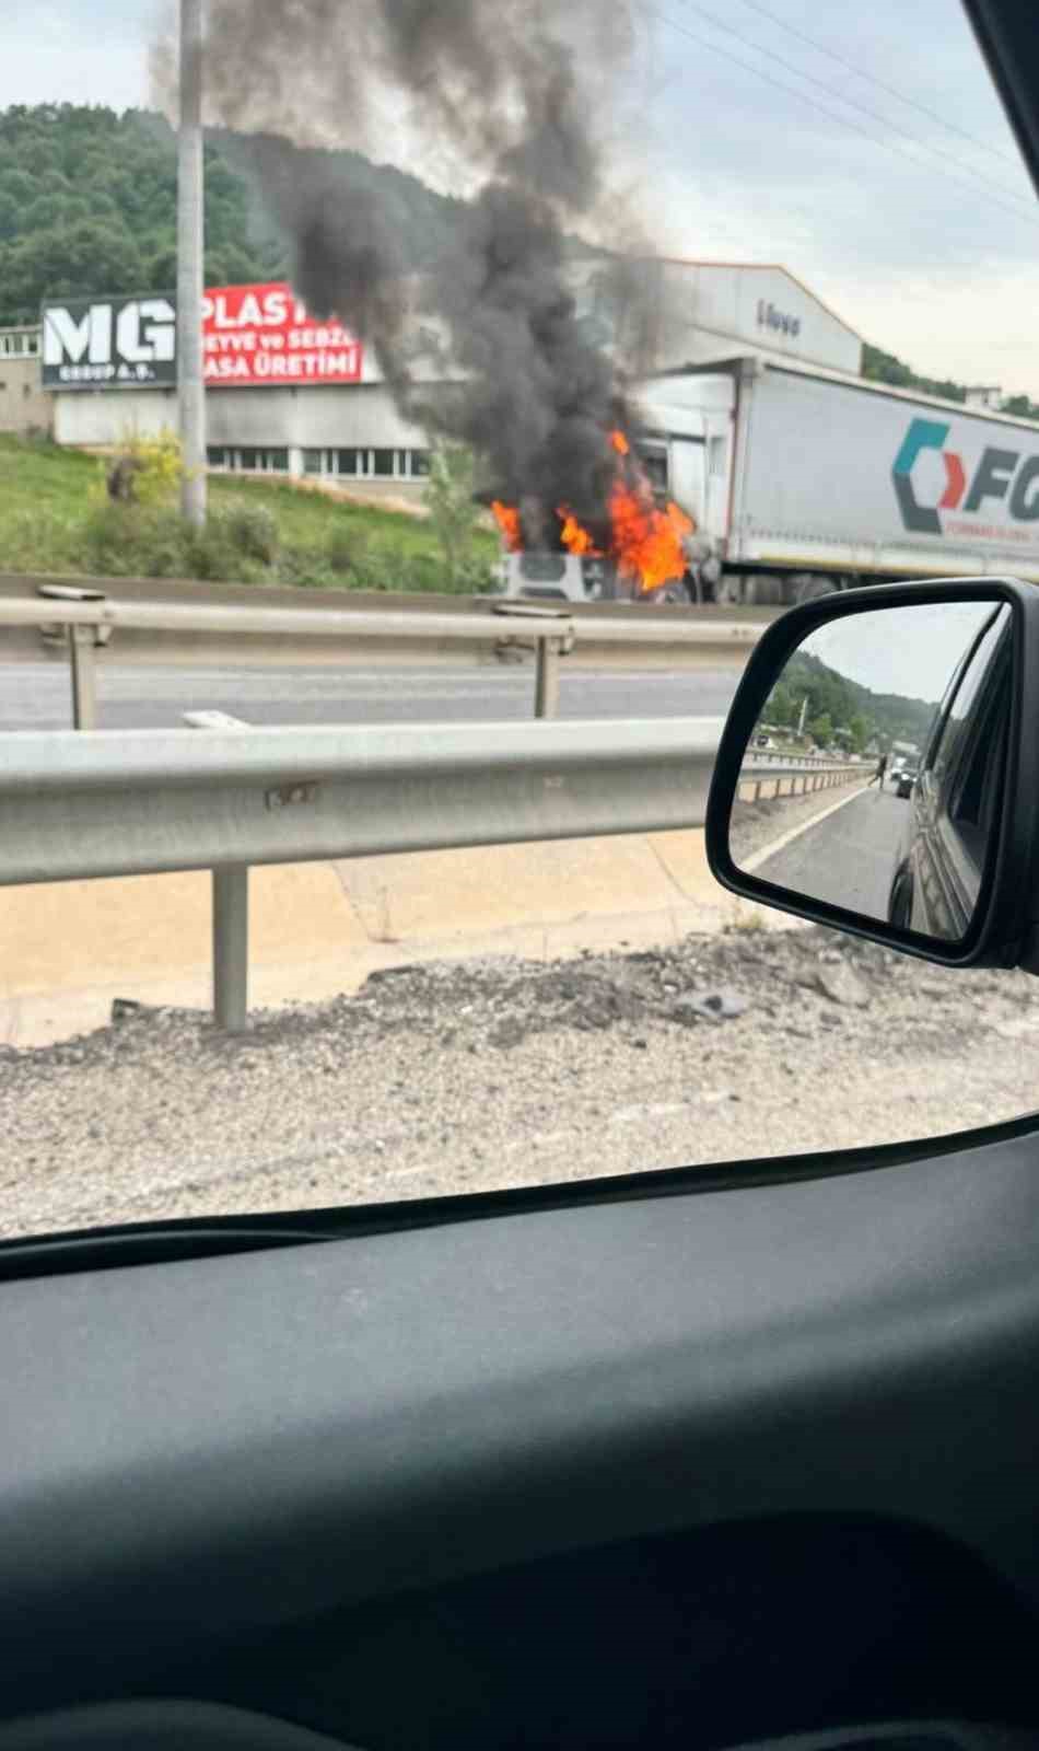
[{"label": "tan concrete strip behind and below the nearest guardrail", "polygon": [[[796,925],[721,890],[701,832],[276,865],[254,870],[250,911],[254,1007],[324,1002],[413,961],[549,961]],[[206,874],[0,890],[0,1044],[105,1026],[117,996],[208,1007]]]}]

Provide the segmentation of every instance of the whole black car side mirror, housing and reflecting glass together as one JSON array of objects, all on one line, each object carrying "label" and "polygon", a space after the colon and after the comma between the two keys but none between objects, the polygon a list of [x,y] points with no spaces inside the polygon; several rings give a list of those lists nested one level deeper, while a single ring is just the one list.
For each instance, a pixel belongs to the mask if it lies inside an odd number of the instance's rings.
[{"label": "whole black car side mirror, housing and reflecting glass together", "polygon": [[806,602],[756,646],[707,809],[722,886],[952,967],[1039,970],[1039,590]]}]

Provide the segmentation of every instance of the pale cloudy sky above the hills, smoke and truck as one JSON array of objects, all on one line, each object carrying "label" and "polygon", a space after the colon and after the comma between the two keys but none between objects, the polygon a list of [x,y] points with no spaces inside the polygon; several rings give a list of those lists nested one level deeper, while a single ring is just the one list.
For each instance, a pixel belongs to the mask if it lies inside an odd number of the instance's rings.
[{"label": "pale cloudy sky above the hills, smoke and truck", "polygon": [[[147,102],[163,0],[14,4],[0,107]],[[617,180],[661,250],[780,261],[917,369],[1039,399],[1039,201],[959,0],[637,9]]]}]

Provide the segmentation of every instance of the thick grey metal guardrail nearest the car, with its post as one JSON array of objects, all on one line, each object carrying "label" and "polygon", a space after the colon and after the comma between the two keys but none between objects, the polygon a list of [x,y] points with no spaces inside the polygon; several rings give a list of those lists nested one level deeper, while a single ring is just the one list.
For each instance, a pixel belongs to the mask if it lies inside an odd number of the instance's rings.
[{"label": "thick grey metal guardrail nearest the car, with its post", "polygon": [[0,886],[213,872],[217,1023],[247,1021],[248,868],[701,826],[721,720],[21,732]]}]

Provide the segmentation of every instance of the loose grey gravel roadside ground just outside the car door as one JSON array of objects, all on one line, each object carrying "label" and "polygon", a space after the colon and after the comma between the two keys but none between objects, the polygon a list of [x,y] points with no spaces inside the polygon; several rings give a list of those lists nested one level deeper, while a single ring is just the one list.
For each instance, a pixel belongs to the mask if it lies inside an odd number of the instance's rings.
[{"label": "loose grey gravel roadside ground just outside the car door", "polygon": [[5,1234],[577,1180],[1027,1112],[1039,982],[831,932],[415,967],[259,1016],[0,1051]]}]

